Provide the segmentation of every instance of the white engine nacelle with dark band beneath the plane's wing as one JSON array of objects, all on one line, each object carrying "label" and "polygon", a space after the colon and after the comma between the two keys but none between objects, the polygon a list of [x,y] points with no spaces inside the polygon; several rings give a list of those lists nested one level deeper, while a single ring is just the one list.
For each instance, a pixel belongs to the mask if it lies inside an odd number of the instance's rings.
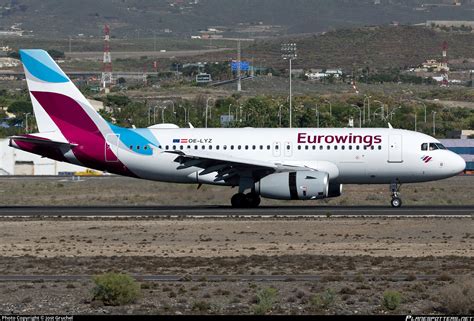
[{"label": "white engine nacelle with dark band beneath the plane's wing", "polygon": [[275,173],[255,183],[255,191],[262,197],[279,200],[326,198],[328,189],[328,173],[317,171]]}]

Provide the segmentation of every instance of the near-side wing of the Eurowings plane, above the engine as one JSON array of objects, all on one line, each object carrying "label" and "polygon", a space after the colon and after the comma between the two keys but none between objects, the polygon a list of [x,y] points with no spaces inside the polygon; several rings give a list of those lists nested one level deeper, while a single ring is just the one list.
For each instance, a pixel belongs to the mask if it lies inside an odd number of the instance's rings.
[{"label": "near-side wing of the Eurowings plane, above the engine", "polygon": [[239,176],[259,180],[274,172],[308,170],[307,167],[231,157],[208,151],[168,151],[167,153],[177,155],[175,162],[180,163],[178,169],[199,167],[203,169],[199,173],[200,176],[217,172],[216,181],[232,182]]}]

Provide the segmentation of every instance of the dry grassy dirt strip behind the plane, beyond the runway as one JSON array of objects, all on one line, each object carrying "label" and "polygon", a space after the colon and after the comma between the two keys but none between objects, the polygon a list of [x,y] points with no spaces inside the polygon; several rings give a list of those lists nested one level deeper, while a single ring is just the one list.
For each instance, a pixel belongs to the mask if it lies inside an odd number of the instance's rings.
[{"label": "dry grassy dirt strip behind the plane, beyond the runway", "polygon": [[[474,205],[474,176],[403,185],[404,205]],[[9,178],[0,176],[0,206],[230,205],[236,189],[181,185],[124,177]],[[262,199],[262,205],[389,205],[388,185],[345,185],[341,197],[317,201]]]}]

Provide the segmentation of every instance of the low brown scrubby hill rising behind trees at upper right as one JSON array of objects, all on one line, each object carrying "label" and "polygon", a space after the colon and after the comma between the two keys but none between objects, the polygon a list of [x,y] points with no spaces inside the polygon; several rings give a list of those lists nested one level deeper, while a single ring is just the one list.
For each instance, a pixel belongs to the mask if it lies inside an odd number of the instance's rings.
[{"label": "low brown scrubby hill rising behind trees at upper right", "polygon": [[[436,32],[423,27],[366,27],[342,29],[324,35],[292,37],[298,45],[295,68],[385,69],[440,59],[441,45],[448,41],[449,59],[474,62],[474,34]],[[260,64],[284,67],[280,45],[284,39],[259,41],[246,51]],[[470,62],[468,62],[470,60]]]}]

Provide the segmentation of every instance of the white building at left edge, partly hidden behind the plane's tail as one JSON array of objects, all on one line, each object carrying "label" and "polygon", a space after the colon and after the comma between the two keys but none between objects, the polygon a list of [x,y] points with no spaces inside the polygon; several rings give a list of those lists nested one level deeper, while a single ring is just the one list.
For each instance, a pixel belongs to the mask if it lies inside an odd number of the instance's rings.
[{"label": "white building at left edge, partly hidden behind the plane's tail", "polygon": [[9,139],[0,139],[0,175],[60,175],[86,170],[81,166],[12,148],[8,143]]}]

